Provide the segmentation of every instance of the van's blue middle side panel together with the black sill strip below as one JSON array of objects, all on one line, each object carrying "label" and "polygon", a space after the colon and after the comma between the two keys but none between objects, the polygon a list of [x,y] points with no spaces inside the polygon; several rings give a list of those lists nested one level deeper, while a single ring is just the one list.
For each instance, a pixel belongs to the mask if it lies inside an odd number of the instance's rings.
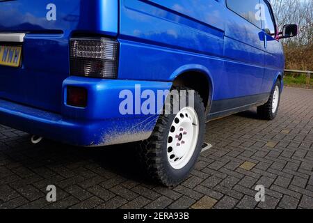
[{"label": "van's blue middle side panel together with the black sill strip below", "polygon": [[[223,91],[223,98],[214,95],[209,118],[241,112],[268,99],[262,91],[264,79],[264,33],[259,27],[225,10],[224,82],[215,91]],[[217,94],[219,95],[219,94]]]}]

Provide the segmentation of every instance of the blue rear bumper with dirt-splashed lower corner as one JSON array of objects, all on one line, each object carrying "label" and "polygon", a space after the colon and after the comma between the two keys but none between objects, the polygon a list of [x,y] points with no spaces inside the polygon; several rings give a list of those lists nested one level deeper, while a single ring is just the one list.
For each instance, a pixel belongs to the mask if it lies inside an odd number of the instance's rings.
[{"label": "blue rear bumper with dirt-splashed lower corner", "polygon": [[[62,114],[19,105],[0,99],[0,124],[62,141],[76,146],[106,146],[150,137],[157,121],[156,115],[122,115],[119,105],[120,91],[134,92],[169,90],[168,82],[141,82],[69,77],[63,82],[63,95],[67,86],[80,86],[88,90],[86,108],[67,106],[63,100]],[[64,96],[64,98],[66,98]]]}]

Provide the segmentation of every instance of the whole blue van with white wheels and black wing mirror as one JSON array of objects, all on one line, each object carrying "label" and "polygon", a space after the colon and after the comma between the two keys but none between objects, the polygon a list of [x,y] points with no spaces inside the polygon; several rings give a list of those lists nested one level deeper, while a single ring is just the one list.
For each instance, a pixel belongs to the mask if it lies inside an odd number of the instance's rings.
[{"label": "whole blue van with white wheels and black wing mirror", "polygon": [[[193,168],[207,121],[251,107],[275,118],[280,39],[297,35],[278,31],[267,0],[1,0],[0,11],[0,123],[33,142],[139,141],[147,172],[169,187]],[[192,105],[140,111],[173,91]],[[135,105],[121,112],[125,100]]]}]

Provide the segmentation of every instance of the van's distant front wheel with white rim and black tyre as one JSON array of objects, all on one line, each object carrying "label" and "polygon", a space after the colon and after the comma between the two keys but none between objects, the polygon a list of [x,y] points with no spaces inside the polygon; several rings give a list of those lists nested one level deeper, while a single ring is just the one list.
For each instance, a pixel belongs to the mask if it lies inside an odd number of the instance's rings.
[{"label": "van's distant front wheel with white rim and black tyre", "polygon": [[257,107],[257,114],[266,120],[273,120],[278,114],[278,108],[280,106],[280,93],[281,93],[280,80],[275,83],[275,86],[271,92],[270,97],[265,105]]}]

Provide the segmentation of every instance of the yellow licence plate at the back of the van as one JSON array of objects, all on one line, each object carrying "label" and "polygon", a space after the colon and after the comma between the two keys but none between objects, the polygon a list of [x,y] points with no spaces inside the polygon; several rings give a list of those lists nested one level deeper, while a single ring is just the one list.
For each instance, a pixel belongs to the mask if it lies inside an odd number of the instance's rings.
[{"label": "yellow licence plate at the back of the van", "polygon": [[19,67],[22,58],[22,47],[0,44],[0,66]]}]

